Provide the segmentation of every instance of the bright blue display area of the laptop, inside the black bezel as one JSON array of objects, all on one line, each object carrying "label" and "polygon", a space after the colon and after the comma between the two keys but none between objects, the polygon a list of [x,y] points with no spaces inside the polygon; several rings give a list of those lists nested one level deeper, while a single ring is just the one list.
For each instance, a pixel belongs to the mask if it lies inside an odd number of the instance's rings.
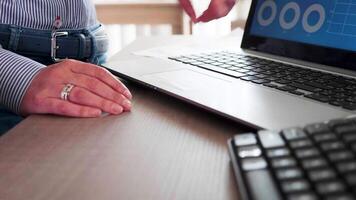
[{"label": "bright blue display area of the laptop, inside the black bezel", "polygon": [[250,34],[356,51],[356,0],[258,0]]}]

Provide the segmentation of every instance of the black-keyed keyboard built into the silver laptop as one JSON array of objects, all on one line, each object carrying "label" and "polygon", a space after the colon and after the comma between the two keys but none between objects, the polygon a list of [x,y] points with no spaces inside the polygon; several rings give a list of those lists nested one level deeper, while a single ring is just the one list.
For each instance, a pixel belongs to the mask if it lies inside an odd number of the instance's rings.
[{"label": "black-keyed keyboard built into the silver laptop", "polygon": [[243,81],[356,110],[356,79],[231,52],[171,57]]}]

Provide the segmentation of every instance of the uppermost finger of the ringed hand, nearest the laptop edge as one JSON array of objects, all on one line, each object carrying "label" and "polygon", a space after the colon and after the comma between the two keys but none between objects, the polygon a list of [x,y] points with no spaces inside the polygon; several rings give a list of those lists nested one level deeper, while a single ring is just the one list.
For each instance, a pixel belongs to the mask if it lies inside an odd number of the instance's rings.
[{"label": "uppermost finger of the ringed hand, nearest the laptop edge", "polygon": [[102,67],[77,61],[75,65],[72,65],[71,70],[77,74],[84,74],[99,79],[128,99],[132,98],[132,95],[126,86]]}]

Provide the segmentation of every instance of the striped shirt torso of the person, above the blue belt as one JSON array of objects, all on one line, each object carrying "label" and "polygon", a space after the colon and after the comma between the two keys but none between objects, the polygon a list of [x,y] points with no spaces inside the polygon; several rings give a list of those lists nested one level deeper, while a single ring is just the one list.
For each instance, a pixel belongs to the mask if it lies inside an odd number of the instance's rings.
[{"label": "striped shirt torso of the person, above the blue belt", "polygon": [[92,0],[0,0],[0,24],[50,30],[57,17],[63,29],[97,24]]}]

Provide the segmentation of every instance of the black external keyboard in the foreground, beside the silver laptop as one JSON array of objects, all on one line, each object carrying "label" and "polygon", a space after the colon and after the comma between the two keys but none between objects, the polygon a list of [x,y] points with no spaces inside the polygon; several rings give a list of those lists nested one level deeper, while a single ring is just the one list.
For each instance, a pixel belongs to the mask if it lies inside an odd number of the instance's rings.
[{"label": "black external keyboard in the foreground, beside the silver laptop", "polygon": [[356,118],[230,139],[242,199],[356,199]]}]

